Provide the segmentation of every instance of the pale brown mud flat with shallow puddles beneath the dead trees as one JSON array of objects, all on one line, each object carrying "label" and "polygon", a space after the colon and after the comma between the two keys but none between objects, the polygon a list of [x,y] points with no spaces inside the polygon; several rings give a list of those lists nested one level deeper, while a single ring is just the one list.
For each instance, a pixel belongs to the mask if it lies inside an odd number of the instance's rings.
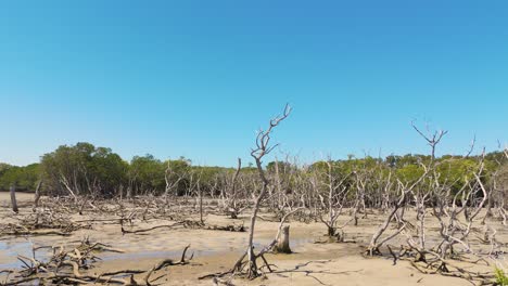
[{"label": "pale brown mud flat with shallow puddles beneath the dead trees", "polygon": [[[17,216],[27,216],[31,212],[29,203],[31,195],[17,194],[21,205],[20,214],[13,214],[9,209],[9,198],[0,193],[0,220],[3,223],[15,223]],[[195,216],[195,214],[194,214]],[[188,216],[191,217],[190,214]],[[269,214],[263,213],[268,218]],[[68,246],[89,237],[90,240],[110,245],[124,250],[123,253],[104,252],[99,255],[102,260],[88,270],[98,274],[123,269],[151,269],[162,259],[173,258],[179,260],[182,249],[190,245],[189,255],[194,258],[185,265],[173,265],[158,271],[157,275],[166,274],[158,285],[213,285],[212,280],[198,280],[199,276],[229,270],[246,247],[247,233],[227,232],[202,229],[154,229],[139,234],[123,234],[118,223],[100,221],[111,219],[99,212],[87,212],[82,216],[72,214],[73,221],[94,220],[90,229],[81,229],[69,236],[0,236],[0,270],[21,268],[17,256],[31,256],[33,246]],[[207,214],[206,223],[216,225],[237,225],[244,221],[247,225],[247,216],[239,220],[231,220],[225,216]],[[275,264],[274,273],[254,281],[233,277],[232,285],[471,285],[468,281],[457,277],[447,277],[439,274],[422,274],[407,261],[397,261],[393,265],[391,257],[366,258],[361,253],[371,235],[383,220],[382,216],[369,216],[361,219],[358,226],[348,225],[344,229],[346,240],[356,243],[316,243],[325,239],[326,227],[321,223],[294,222],[291,225],[291,255],[268,255],[270,264]],[[148,229],[167,224],[167,220],[151,219],[136,221],[136,229]],[[429,223],[434,223],[430,221]],[[498,240],[507,242],[506,226],[498,222]],[[259,246],[268,244],[275,236],[278,222],[258,220],[255,240]],[[403,237],[401,237],[403,238]],[[392,245],[402,242],[393,240]],[[49,256],[49,253],[46,253]],[[38,251],[38,258],[43,260],[45,252]],[[471,268],[471,264],[468,265]],[[478,271],[493,271],[493,266],[482,263],[473,264]],[[470,269],[472,270],[472,269]],[[0,285],[5,275],[0,274]],[[226,277],[225,277],[226,280]],[[34,285],[30,282],[25,285]]]}]

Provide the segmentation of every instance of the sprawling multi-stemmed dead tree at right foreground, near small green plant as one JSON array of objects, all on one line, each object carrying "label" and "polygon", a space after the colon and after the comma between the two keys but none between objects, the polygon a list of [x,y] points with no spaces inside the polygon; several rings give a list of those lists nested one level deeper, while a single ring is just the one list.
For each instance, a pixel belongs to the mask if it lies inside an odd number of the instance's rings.
[{"label": "sprawling multi-stemmed dead tree at right foreground, near small green plant", "polygon": [[[407,243],[409,245],[407,250],[416,250],[417,252],[415,260],[410,260],[409,262],[420,272],[441,273],[447,276],[462,277],[472,283],[478,282],[478,285],[497,285],[492,274],[473,272],[468,270],[468,268],[453,263],[453,260],[461,260],[465,263],[484,261],[486,264],[490,264],[480,253],[473,251],[469,243],[471,232],[473,229],[478,229],[473,227],[474,219],[484,208],[490,192],[492,192],[483,182],[485,180],[483,160],[484,153],[480,157],[478,167],[474,167],[475,169],[470,172],[472,176],[465,177],[466,180],[462,187],[455,194],[452,193],[452,186],[457,183],[457,180],[455,182],[448,182],[447,178],[443,178],[445,183],[440,183],[437,176],[434,174],[434,184],[431,186],[431,190],[433,190],[432,195],[434,196],[433,200],[435,202],[433,205],[433,214],[441,225],[439,234],[442,239],[441,242],[437,240],[434,247],[422,246],[414,240],[412,234],[406,233]],[[463,214],[463,219],[459,216],[461,213]],[[485,224],[483,229],[484,237],[478,238],[484,244],[490,245],[491,249],[486,256],[497,263],[499,259],[496,252],[499,250],[499,245],[503,244],[496,240],[495,235],[497,231],[492,227],[492,225]],[[462,247],[466,252],[479,259],[471,261],[467,256],[456,253],[454,249],[455,245]],[[431,258],[427,259],[426,255],[431,256]],[[417,262],[422,262],[424,265],[420,265]]]}]

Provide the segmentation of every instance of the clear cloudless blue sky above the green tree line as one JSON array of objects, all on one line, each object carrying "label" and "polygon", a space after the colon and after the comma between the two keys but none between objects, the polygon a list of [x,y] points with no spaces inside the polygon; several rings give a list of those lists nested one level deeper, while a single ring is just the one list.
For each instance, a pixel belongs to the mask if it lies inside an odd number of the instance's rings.
[{"label": "clear cloudless blue sky above the green tree line", "polygon": [[[232,166],[508,142],[508,1],[1,1],[0,161],[86,141]],[[280,156],[280,155],[279,155]]]}]

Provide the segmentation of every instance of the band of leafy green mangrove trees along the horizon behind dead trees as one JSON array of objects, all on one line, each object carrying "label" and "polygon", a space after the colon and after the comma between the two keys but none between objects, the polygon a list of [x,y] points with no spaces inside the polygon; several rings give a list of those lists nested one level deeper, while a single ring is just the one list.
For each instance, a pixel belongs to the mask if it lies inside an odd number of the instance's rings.
[{"label": "band of leafy green mangrove trees along the horizon behind dead trees", "polygon": [[[498,180],[508,178],[508,159],[503,152],[491,152],[484,156],[482,178],[485,183],[495,176]],[[353,177],[371,178],[395,176],[403,182],[411,182],[421,177],[424,166],[435,160],[439,180],[453,182],[457,192],[472,172],[478,169],[478,156],[444,155],[432,158],[431,155],[407,154],[390,155],[385,158],[348,156],[341,160],[321,160],[310,165],[299,165],[296,158],[287,157],[281,161],[266,165],[270,177],[307,176],[309,172],[322,172],[331,164],[332,172],[338,178],[345,178],[353,187]],[[236,172],[234,168],[193,166],[192,161],[180,157],[175,160],[161,160],[152,155],[135,156],[124,160],[107,147],[97,147],[90,143],[62,145],[55,151],[41,156],[40,162],[25,167],[0,162],[0,190],[15,185],[20,191],[34,191],[42,181],[41,191],[47,195],[73,196],[91,195],[101,197],[131,197],[137,195],[192,195],[199,185],[202,194],[214,195],[227,187]],[[255,177],[256,168],[242,167],[243,177]],[[354,176],[352,176],[354,174]],[[347,182],[346,184],[347,185]],[[253,186],[254,187],[254,186]],[[355,186],[357,187],[357,186]],[[370,185],[371,188],[376,186]],[[291,182],[288,193],[291,193]]]}]

